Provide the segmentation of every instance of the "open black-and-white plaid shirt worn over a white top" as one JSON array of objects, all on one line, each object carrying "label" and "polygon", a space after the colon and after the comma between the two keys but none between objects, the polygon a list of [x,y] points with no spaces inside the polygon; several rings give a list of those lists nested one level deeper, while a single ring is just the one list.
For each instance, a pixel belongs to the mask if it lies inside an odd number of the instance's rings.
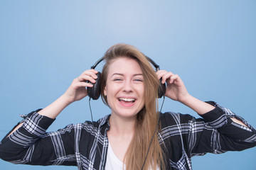
[{"label": "open black-and-white plaid shirt worn over a white top", "polygon": [[[220,154],[256,146],[256,130],[227,108],[216,108],[196,119],[180,113],[161,113],[158,139],[167,156],[167,169],[192,169],[191,157]],[[68,125],[46,132],[53,119],[33,111],[23,125],[0,143],[0,157],[14,164],[67,165],[78,169],[105,169],[110,115],[97,122]],[[247,127],[230,118],[242,120]],[[6,135],[7,136],[7,135]]]}]

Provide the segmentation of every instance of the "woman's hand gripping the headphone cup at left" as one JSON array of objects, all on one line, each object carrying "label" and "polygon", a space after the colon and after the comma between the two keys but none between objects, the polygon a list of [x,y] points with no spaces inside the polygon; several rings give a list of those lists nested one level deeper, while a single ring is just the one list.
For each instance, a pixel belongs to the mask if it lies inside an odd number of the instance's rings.
[{"label": "woman's hand gripping the headphone cup at left", "polygon": [[[92,87],[97,79],[97,70],[95,69],[89,69],[83,72],[79,77],[75,78],[68,88],[67,91],[65,91],[65,96],[68,99],[68,102],[73,103],[74,101],[80,101],[82,98],[85,98],[87,96],[87,89],[86,87]],[[87,81],[90,81],[92,84],[87,83]]]}]

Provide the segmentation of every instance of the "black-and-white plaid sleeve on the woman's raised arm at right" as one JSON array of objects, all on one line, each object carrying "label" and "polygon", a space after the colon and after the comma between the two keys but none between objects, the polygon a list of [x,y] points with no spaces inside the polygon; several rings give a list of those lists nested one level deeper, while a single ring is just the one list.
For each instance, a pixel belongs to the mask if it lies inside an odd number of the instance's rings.
[{"label": "black-and-white plaid sleeve on the woman's raised arm at right", "polygon": [[[187,137],[191,156],[206,152],[220,154],[241,151],[256,146],[256,130],[246,120],[213,101],[207,103],[215,106],[215,109],[201,115],[203,120],[193,118],[189,121]],[[230,118],[241,120],[247,127]]]}]

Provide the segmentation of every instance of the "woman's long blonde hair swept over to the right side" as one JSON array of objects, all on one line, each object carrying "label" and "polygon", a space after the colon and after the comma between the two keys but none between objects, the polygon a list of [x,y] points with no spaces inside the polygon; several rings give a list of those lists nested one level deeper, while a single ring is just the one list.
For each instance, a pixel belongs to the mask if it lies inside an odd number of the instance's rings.
[{"label": "woman's long blonde hair swept over to the right side", "polygon": [[[144,76],[144,108],[137,114],[137,121],[135,123],[135,132],[132,142],[130,143],[125,154],[124,164],[127,170],[142,169],[146,152],[149,149],[151,137],[156,128],[159,113],[157,112],[158,103],[156,101],[159,88],[159,79],[156,77],[156,72],[151,67],[151,64],[136,47],[126,44],[117,44],[110,47],[105,52],[105,65],[102,69],[101,77],[101,96],[102,101],[107,104],[107,96],[104,95],[104,89],[107,81],[107,73],[110,64],[118,57],[131,57],[137,60],[142,69]],[[158,127],[160,130],[160,125]],[[149,157],[147,157],[144,169],[164,169],[164,152],[161,149],[157,135],[154,138],[149,149]]]}]

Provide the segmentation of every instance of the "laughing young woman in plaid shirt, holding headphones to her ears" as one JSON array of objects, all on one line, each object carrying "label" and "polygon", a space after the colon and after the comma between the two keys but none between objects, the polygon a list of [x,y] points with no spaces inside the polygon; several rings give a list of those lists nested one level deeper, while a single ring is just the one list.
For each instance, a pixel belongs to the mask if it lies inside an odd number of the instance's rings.
[{"label": "laughing young woman in plaid shirt, holding headphones to her ears", "polygon": [[[1,141],[1,159],[78,169],[192,169],[195,155],[256,145],[256,130],[245,120],[213,101],[194,98],[177,74],[155,72],[135,47],[114,45],[104,59],[101,78],[95,69],[87,70],[50,106],[24,116]],[[46,132],[63,108],[87,96],[85,87],[92,87],[98,78],[111,114],[97,122]],[[166,83],[166,97],[192,108],[203,119],[159,113],[159,79]]]}]

